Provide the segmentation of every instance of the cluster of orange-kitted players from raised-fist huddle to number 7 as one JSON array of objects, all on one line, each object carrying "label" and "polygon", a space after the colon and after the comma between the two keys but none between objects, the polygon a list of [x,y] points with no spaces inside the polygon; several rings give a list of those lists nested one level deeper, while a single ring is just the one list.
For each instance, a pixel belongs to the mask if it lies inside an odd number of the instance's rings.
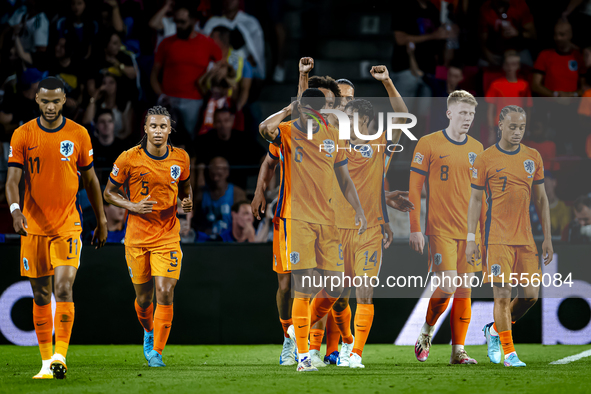
[{"label": "cluster of orange-kitted players from raised-fist huddle to number 7", "polygon": [[[356,289],[355,330],[351,332],[351,289],[306,287],[310,282],[304,278],[378,276],[383,248],[392,240],[386,204],[410,212],[410,246],[423,254],[420,206],[426,183],[428,270],[440,279],[452,280],[440,280],[442,285],[431,296],[415,345],[417,360],[424,362],[429,357],[435,325],[453,297],[450,364],[477,364],[468,356],[464,342],[471,318],[470,279],[482,271],[485,279],[494,278],[494,322],[483,328],[488,357],[500,363],[502,348],[505,366],[525,366],[515,352],[511,324],[533,306],[538,288],[517,283],[519,295],[511,301],[509,284],[514,284],[512,273],[531,277],[541,272],[529,221],[532,185],[545,236],[545,264],[551,262],[553,250],[542,159],[536,150],[520,143],[526,125],[523,109],[508,106],[501,111],[498,143],[484,151],[481,143],[467,135],[476,99],[466,91],[452,92],[447,99],[448,127],[424,136],[416,145],[409,191],[387,192],[384,179],[393,151],[388,148],[398,144],[400,132],[389,141],[370,138],[372,104],[355,99],[354,86],[346,79],[308,80],[313,67],[313,59],[300,60],[298,99],[259,127],[269,142],[269,155],[261,166],[252,202],[257,217],[259,211],[264,212],[264,192],[279,163],[281,174],[272,260],[285,337],[279,363],[297,364],[301,372],[328,364],[364,368],[361,356],[374,317],[373,288],[363,282],[365,286]],[[407,112],[386,67],[372,67],[371,75],[384,84],[394,112]],[[340,109],[349,117],[349,140],[339,140],[338,117],[322,111],[330,109]],[[292,119],[284,121],[290,115]],[[368,138],[354,135],[354,128]],[[381,152],[372,149],[380,144],[386,147]],[[458,281],[453,280],[456,277]],[[322,360],[319,349],[325,327],[327,354]],[[342,344],[337,351],[339,334]]]}]

